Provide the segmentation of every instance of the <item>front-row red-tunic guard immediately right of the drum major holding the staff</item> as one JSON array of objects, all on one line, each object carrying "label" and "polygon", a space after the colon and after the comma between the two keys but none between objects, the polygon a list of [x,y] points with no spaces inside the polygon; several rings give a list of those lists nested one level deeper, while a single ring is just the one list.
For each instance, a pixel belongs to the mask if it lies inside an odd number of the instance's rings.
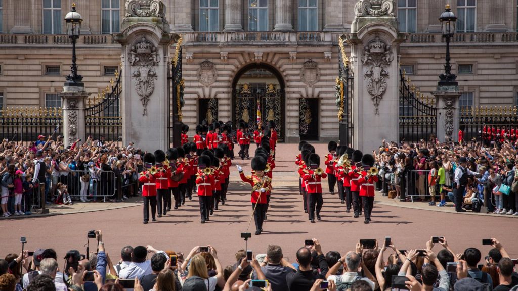
[{"label": "front-row red-tunic guard immediately right of the drum major holding the staff", "polygon": [[[327,178],[327,174],[320,166],[320,156],[318,154],[310,154],[308,157],[309,171],[304,174],[302,178],[306,182],[308,189],[308,203],[309,203],[309,221],[315,222],[315,210],[316,219],[322,220],[320,217],[320,210],[324,204],[322,198],[322,179]],[[316,207],[315,207],[316,205]]]}]

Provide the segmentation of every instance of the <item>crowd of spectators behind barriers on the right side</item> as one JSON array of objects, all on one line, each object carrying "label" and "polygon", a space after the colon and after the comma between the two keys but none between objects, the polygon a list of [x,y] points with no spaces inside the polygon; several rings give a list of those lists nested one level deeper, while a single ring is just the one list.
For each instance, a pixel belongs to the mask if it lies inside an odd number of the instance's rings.
[{"label": "crowd of spectators behind barriers on the right side", "polygon": [[[487,144],[486,144],[487,143]],[[518,143],[395,143],[374,151],[380,168],[378,190],[401,201],[429,200],[457,212],[518,215]],[[467,179],[466,179],[467,178]]]}]

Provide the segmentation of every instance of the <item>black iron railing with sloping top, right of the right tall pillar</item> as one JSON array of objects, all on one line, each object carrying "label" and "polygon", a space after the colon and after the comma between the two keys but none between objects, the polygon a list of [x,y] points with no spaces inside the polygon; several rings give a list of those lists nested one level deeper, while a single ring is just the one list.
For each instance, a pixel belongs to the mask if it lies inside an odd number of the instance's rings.
[{"label": "black iron railing with sloping top, right of the right tall pillar", "polygon": [[437,108],[435,99],[424,97],[405,80],[399,70],[399,141],[416,143],[436,138]]}]

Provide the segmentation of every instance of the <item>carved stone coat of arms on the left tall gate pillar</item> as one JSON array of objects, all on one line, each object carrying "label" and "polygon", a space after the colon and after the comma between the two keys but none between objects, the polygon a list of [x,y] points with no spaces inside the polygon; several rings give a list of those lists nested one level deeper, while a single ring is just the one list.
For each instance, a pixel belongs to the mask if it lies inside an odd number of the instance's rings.
[{"label": "carved stone coat of arms on the left tall gate pillar", "polygon": [[160,62],[160,54],[157,47],[147,41],[146,36],[142,36],[141,40],[130,48],[128,62],[130,65],[136,66],[136,69],[132,71],[132,78],[135,90],[142,102],[142,115],[147,115],[149,97],[153,94],[154,80],[157,79],[154,67]]}]

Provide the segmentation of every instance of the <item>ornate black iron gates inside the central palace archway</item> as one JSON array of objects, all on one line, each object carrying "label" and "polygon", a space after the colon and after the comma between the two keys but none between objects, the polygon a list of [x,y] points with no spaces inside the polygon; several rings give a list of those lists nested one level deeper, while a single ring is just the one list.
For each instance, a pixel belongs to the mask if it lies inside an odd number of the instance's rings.
[{"label": "ornate black iron gates inside the central palace archway", "polygon": [[275,89],[271,84],[266,90],[252,90],[248,84],[243,84],[241,89],[234,90],[232,101],[235,128],[238,128],[239,120],[243,120],[249,124],[252,131],[255,130],[257,127],[257,100],[259,100],[263,125],[270,120],[274,121],[278,140],[279,142],[284,141],[284,90]]}]

